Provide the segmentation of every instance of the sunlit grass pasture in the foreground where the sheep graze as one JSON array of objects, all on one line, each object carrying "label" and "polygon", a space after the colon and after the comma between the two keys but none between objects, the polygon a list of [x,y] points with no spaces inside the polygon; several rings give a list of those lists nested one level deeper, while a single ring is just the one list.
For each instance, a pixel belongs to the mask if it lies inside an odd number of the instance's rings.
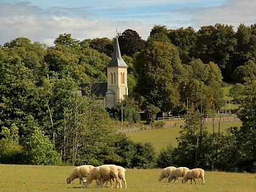
[{"label": "sunlit grass pasture in the foreground where the sheep graze", "polygon": [[256,191],[256,174],[205,172],[205,185],[196,179],[196,184],[168,183],[165,179],[158,182],[161,169],[126,169],[127,189],[82,188],[79,179],[66,184],[66,178],[73,171],[73,166],[32,166],[32,165],[0,165],[0,191]]}]

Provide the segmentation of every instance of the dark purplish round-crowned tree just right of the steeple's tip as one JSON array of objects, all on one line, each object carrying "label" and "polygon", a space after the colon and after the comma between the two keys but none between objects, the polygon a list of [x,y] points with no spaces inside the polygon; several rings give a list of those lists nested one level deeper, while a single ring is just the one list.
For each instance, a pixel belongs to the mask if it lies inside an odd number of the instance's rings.
[{"label": "dark purplish round-crowned tree just right of the steeple's tip", "polygon": [[130,57],[144,49],[145,41],[141,39],[140,35],[132,29],[126,29],[118,37],[119,48],[122,55],[128,55]]}]

